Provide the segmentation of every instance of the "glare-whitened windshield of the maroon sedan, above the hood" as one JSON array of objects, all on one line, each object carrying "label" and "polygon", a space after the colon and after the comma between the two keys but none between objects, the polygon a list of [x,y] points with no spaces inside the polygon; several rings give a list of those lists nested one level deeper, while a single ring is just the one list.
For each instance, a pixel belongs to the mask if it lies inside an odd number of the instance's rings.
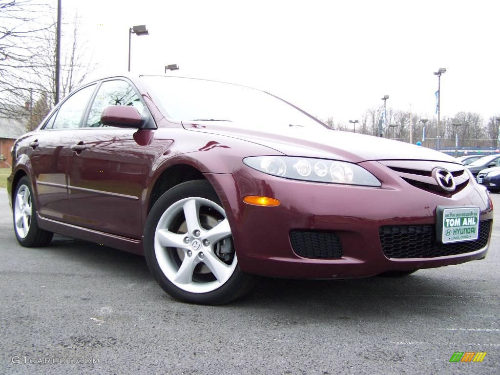
[{"label": "glare-whitened windshield of the maroon sedan, above the hood", "polygon": [[[317,120],[266,92],[236,84],[195,78],[144,75],[168,118],[225,121],[251,128],[269,125],[322,127]],[[225,124],[224,122],[224,124]]]}]

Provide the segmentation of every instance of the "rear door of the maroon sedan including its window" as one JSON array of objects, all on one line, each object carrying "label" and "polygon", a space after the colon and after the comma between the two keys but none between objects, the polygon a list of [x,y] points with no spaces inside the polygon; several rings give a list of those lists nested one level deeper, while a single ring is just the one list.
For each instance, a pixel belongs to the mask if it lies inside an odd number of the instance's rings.
[{"label": "rear door of the maroon sedan including its window", "polygon": [[67,171],[71,138],[85,114],[96,84],[71,93],[34,133],[28,156],[34,173],[38,212],[43,217],[67,221],[69,218]]}]

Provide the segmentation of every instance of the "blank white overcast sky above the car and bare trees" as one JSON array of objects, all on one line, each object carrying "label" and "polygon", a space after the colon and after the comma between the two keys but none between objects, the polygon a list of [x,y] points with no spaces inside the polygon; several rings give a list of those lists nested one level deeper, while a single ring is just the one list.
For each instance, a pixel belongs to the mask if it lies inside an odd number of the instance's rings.
[{"label": "blank white overcast sky above the car and bare trees", "polygon": [[[441,116],[500,114],[500,1],[62,0],[75,9],[98,68],[240,83],[335,122],[382,103],[432,115],[439,67]],[[99,25],[102,24],[102,25]]]}]

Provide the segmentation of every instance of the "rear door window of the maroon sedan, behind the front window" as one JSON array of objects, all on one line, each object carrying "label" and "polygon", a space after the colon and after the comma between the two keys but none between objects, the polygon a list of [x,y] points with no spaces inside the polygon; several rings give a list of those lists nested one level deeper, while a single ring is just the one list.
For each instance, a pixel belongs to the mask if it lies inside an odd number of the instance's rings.
[{"label": "rear door window of the maroon sedan, behind the front window", "polygon": [[55,117],[52,129],[74,129],[80,125],[81,118],[87,107],[88,99],[95,89],[95,84],[76,91],[65,100]]}]

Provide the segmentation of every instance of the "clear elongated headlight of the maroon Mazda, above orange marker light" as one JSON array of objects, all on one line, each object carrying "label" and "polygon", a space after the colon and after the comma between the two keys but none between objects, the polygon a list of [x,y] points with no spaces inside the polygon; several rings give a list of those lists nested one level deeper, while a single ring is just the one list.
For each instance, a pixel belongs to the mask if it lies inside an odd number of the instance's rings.
[{"label": "clear elongated headlight of the maroon Mazda, above orange marker light", "polygon": [[295,156],[251,156],[243,162],[249,167],[274,176],[305,181],[381,186],[363,167],[345,161]]}]

